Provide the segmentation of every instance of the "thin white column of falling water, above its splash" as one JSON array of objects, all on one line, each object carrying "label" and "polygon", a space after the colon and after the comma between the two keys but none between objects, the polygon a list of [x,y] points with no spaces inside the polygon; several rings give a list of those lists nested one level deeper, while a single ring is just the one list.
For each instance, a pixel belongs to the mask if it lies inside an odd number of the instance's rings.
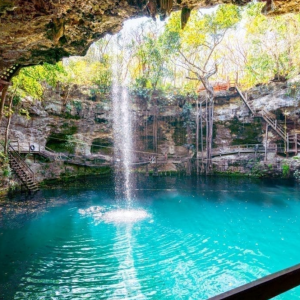
[{"label": "thin white column of falling water, above its splash", "polygon": [[[114,46],[117,52],[118,45]],[[114,52],[114,53],[115,53]],[[132,201],[132,120],[126,79],[122,78],[122,62],[118,56],[112,66],[112,104],[113,104],[113,131],[114,131],[114,161],[115,184],[118,200],[125,199],[127,207]]]}]

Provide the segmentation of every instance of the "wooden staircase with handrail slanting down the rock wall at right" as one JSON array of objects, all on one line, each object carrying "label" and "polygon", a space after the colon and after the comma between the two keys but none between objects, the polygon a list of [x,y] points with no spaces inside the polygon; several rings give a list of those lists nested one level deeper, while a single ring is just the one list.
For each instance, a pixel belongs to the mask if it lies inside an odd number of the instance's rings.
[{"label": "wooden staircase with handrail slanting down the rock wall at right", "polygon": [[295,152],[297,154],[298,149],[300,150],[300,136],[287,133],[283,126],[278,124],[277,120],[267,111],[262,110],[259,114],[256,113],[255,109],[249,103],[247,95],[244,95],[238,86],[235,86],[235,88],[252,115],[263,118],[263,120],[284,140],[286,145],[285,152]]}]

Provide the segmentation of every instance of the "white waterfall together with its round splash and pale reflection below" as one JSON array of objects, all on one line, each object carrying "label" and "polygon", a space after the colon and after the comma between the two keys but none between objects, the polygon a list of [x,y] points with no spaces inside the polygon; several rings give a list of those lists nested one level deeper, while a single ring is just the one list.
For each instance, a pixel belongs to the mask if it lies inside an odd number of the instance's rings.
[{"label": "white waterfall together with its round splash and pale reflection below", "polygon": [[[117,225],[114,256],[119,263],[117,276],[122,278],[112,299],[145,299],[141,285],[137,278],[134,260],[133,223],[148,217],[144,210],[133,208],[132,195],[132,118],[127,89],[126,77],[122,76],[122,61],[118,59],[118,46],[114,44],[114,61],[112,64],[112,104],[113,104],[113,131],[114,131],[114,161],[115,161],[115,189],[119,208],[106,214],[107,220]],[[125,200],[125,201],[122,201]],[[125,204],[126,209],[122,209]],[[121,223],[119,223],[121,222]],[[125,226],[122,226],[122,224]],[[123,251],[120,251],[123,249]]]}]

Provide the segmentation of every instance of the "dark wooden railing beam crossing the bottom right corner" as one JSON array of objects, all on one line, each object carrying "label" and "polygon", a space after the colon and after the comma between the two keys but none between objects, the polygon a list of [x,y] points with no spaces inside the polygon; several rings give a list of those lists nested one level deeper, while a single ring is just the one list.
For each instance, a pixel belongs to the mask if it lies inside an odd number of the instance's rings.
[{"label": "dark wooden railing beam crossing the bottom right corner", "polygon": [[208,300],[267,300],[300,285],[300,264]]}]

